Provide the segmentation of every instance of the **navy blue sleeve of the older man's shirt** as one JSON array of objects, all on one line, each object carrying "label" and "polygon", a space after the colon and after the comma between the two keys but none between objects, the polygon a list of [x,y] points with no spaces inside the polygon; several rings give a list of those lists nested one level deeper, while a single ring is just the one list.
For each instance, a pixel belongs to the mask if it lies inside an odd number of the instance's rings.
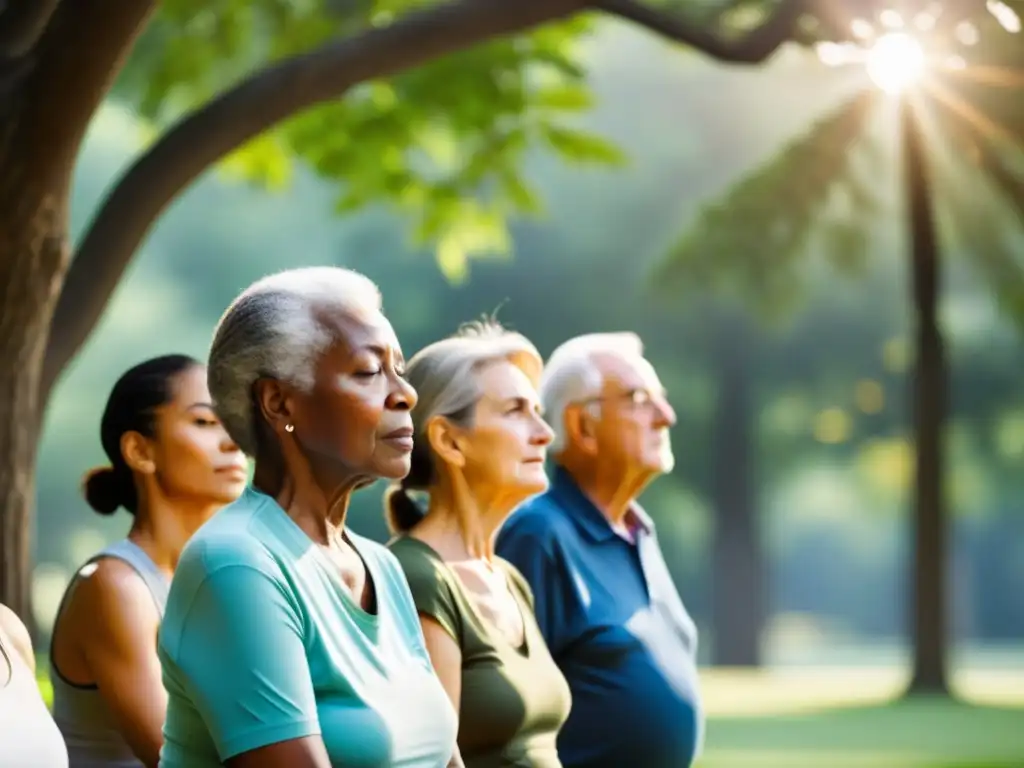
[{"label": "navy blue sleeve of the older man's shirt", "polygon": [[526,580],[537,625],[551,652],[559,653],[573,639],[585,601],[579,594],[575,569],[558,538],[525,522],[506,525],[498,539],[498,552]]}]

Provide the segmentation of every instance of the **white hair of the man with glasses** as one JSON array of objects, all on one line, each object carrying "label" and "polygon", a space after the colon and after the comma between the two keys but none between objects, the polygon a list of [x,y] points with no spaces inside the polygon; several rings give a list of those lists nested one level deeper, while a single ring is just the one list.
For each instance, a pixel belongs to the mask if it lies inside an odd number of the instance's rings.
[{"label": "white hair of the man with glasses", "polygon": [[565,409],[597,397],[604,386],[599,358],[613,355],[625,359],[643,356],[643,342],[635,333],[585,334],[558,346],[544,367],[540,395],[548,424],[555,432],[550,452],[565,450]]}]

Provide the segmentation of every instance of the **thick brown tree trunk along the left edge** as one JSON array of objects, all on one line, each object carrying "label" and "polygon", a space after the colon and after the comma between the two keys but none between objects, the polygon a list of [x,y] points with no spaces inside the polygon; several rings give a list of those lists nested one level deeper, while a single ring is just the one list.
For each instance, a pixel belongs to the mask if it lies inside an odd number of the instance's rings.
[{"label": "thick brown tree trunk along the left edge", "polygon": [[0,14],[0,602],[31,612],[31,512],[50,322],[78,151],[155,0],[36,0]]}]

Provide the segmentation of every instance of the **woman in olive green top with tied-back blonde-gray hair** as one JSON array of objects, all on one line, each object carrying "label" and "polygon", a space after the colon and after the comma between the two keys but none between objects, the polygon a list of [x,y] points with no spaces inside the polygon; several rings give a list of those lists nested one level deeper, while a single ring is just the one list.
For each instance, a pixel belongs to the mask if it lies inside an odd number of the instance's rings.
[{"label": "woman in olive green top with tied-back blonde-gray hair", "polygon": [[[561,768],[570,694],[522,575],[494,554],[512,509],[547,487],[551,429],[539,413],[541,358],[497,324],[416,354],[409,475],[387,498],[390,549],[406,573],[434,672],[459,713],[466,768]],[[429,498],[425,509],[410,497]]]}]

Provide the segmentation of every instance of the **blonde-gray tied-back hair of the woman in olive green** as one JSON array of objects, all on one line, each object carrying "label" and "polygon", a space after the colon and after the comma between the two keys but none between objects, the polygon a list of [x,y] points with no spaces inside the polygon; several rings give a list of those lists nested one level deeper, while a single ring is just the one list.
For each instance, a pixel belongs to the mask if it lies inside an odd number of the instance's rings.
[{"label": "blonde-gray tied-back hair of the woman in olive green", "polygon": [[409,360],[406,376],[418,395],[413,409],[415,447],[409,474],[392,486],[385,500],[392,530],[409,530],[422,519],[422,509],[408,492],[425,490],[435,480],[434,456],[425,433],[427,424],[436,416],[460,426],[471,424],[482,394],[477,374],[488,364],[503,360],[539,383],[544,364],[537,347],[494,319],[467,323]]}]

